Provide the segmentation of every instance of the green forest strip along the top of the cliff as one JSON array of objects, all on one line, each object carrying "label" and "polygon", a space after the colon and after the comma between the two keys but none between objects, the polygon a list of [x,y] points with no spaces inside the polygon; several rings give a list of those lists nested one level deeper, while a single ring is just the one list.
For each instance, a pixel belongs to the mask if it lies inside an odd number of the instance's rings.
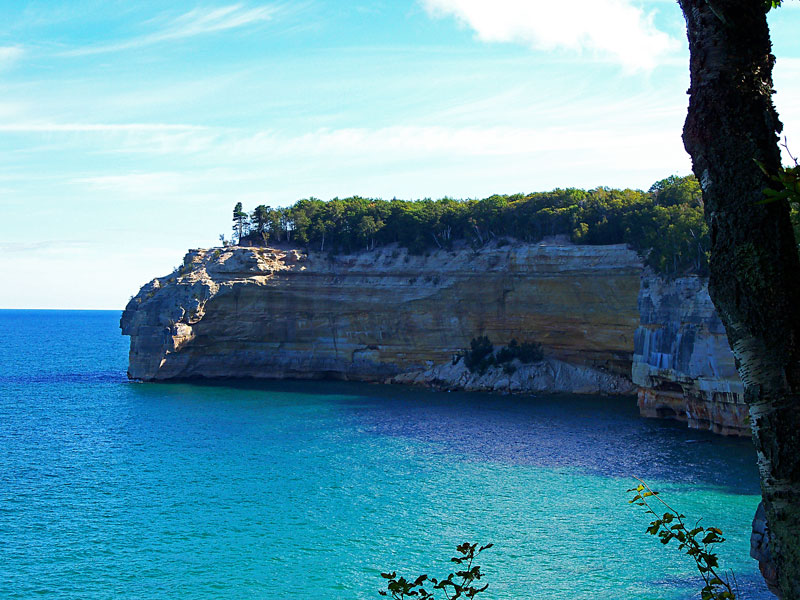
[{"label": "green forest strip along the top of the cliff", "polygon": [[505,238],[535,243],[566,234],[578,244],[627,243],[664,274],[706,274],[710,246],[693,175],[662,179],[647,192],[599,187],[483,200],[308,198],[251,213],[239,203],[233,222],[240,244],[289,243],[331,253],[392,243],[422,253],[455,243],[478,248]]}]

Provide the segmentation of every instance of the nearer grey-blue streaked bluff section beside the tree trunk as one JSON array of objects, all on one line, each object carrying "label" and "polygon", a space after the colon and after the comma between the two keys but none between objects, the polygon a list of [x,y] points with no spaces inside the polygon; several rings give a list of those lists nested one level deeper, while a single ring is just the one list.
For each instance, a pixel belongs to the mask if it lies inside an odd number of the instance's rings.
[{"label": "nearer grey-blue streaked bluff section beside the tree trunk", "polygon": [[747,405],[722,322],[699,277],[642,276],[632,378],[648,417],[749,435]]}]

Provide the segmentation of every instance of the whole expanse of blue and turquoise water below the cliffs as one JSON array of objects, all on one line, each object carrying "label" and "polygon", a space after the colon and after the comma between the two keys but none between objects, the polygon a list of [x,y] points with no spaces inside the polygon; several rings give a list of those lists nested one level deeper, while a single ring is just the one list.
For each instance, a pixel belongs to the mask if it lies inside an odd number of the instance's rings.
[{"label": "whole expanse of blue and turquoise water below the cliffs", "polygon": [[696,597],[632,475],[721,527],[743,598],[749,441],[630,399],[143,384],[116,312],[0,311],[0,597],[377,598],[465,540],[503,599]]}]

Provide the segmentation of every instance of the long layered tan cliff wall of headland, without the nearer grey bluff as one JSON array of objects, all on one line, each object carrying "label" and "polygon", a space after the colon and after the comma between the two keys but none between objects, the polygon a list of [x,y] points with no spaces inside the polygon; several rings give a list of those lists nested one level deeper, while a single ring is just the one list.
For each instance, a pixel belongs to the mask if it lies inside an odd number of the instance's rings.
[{"label": "long layered tan cliff wall of headland, without the nearer grey bluff", "polygon": [[[473,337],[487,335],[497,346],[540,342],[549,361],[531,371],[540,387],[630,392],[641,269],[623,245],[557,241],[333,259],[195,250],[184,267],[141,289],[121,327],[131,337],[129,375],[144,380],[421,381],[437,367],[431,377],[442,375]],[[537,389],[524,372],[514,385]],[[561,383],[542,383],[548,378]]]}]

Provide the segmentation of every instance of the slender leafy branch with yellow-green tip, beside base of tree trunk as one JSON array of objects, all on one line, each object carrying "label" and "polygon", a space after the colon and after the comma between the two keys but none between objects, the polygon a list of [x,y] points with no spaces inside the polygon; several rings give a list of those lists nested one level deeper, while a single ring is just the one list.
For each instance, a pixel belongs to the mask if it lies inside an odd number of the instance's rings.
[{"label": "slender leafy branch with yellow-green tip, beside base of tree trunk", "polygon": [[[638,479],[638,477],[637,477]],[[662,544],[667,545],[675,540],[678,549],[690,556],[697,566],[705,585],[700,590],[701,600],[734,600],[736,598],[736,579],[731,573],[721,574],[717,555],[712,552],[715,544],[725,541],[722,531],[717,527],[701,527],[700,521],[691,529],[686,526],[686,515],[679,513],[664,502],[658,492],[654,492],[641,479],[639,485],[628,490],[635,495],[629,502],[645,507],[647,514],[655,517],[647,528],[647,533],[658,536]],[[659,516],[647,501],[647,498],[658,500],[667,511]],[[698,539],[699,538],[699,539]]]}]

